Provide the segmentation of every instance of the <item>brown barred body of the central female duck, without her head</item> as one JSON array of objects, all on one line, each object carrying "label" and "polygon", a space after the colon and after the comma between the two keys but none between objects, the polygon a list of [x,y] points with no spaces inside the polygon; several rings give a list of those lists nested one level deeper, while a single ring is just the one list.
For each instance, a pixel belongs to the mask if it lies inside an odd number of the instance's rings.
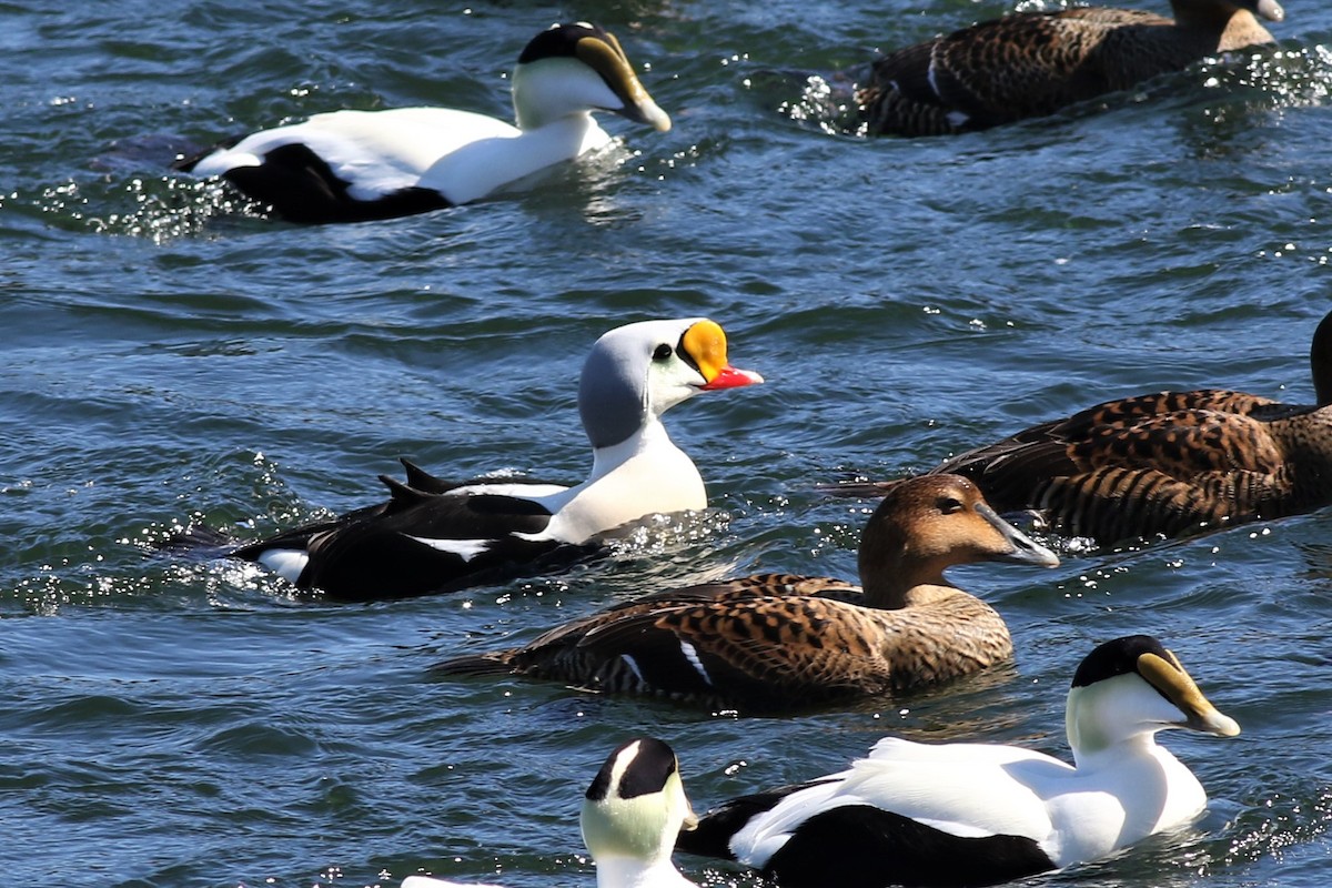
[{"label": "brown barred body of the central female duck, without her head", "polygon": [[883,611],[765,596],[635,614],[577,646],[591,687],[781,711],[976,672],[1012,655],[1003,619],[958,592]]}]

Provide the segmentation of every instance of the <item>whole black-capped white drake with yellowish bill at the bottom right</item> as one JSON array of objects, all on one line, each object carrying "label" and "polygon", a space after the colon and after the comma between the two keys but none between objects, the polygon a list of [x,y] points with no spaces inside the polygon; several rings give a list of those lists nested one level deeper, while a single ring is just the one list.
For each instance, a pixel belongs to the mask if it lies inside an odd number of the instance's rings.
[{"label": "whole black-capped white drake with yellowish bill at the bottom right", "polygon": [[1020,747],[888,738],[840,774],[727,801],[675,847],[783,888],[998,884],[1191,821],[1207,793],[1156,732],[1240,732],[1147,635],[1082,662],[1066,720],[1072,766]]}]

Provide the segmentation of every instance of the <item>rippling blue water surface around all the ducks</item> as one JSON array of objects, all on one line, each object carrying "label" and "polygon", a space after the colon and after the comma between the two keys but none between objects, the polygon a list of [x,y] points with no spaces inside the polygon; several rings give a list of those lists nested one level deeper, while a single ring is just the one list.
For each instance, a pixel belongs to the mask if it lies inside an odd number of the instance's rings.
[{"label": "rippling blue water surface around all the ducks", "polygon": [[[1164,12],[1164,4],[1143,0]],[[1024,4],[1032,8],[1032,4]],[[699,809],[896,732],[1067,755],[1063,696],[1146,631],[1244,734],[1171,735],[1205,817],[1027,884],[1328,883],[1332,514],[1052,571],[956,570],[1011,666],[783,719],[432,678],[633,595],[754,570],[854,576],[862,503],[1096,401],[1312,399],[1332,309],[1332,8],[1279,45],[1052,118],[940,140],[839,129],[832,72],[1012,9],[984,0],[0,5],[0,873],[11,885],[593,884],[582,789],[621,739],[678,750]],[[675,126],[523,193],[353,226],[261,218],[186,146],[337,108],[507,117],[541,28],[615,32]],[[669,415],[709,482],[569,575],[394,603],[301,599],[163,555],[382,497],[408,455],[577,481],[606,329],[706,314],[767,383]],[[707,884],[754,884],[681,859]]]}]

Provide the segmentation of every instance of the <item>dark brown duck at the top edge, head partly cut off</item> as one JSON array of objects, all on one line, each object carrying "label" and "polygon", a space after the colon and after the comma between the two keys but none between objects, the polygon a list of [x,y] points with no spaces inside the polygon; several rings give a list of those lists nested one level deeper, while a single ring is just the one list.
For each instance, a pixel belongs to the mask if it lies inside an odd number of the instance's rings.
[{"label": "dark brown duck at the top edge, head partly cut off", "polygon": [[1039,117],[1219,52],[1272,43],[1276,0],[1171,0],[1175,19],[1075,7],[1015,12],[874,63],[856,91],[870,134],[939,136]]}]

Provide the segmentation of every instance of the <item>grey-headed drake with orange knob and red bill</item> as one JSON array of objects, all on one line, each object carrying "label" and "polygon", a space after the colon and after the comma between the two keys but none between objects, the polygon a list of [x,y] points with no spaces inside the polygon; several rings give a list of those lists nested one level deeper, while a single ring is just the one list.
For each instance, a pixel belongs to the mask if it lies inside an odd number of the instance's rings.
[{"label": "grey-headed drake with orange knob and red bill", "polygon": [[[412,463],[390,498],[234,550],[300,588],[338,599],[442,592],[565,560],[570,547],[657,513],[707,506],[703,479],[661,415],[699,391],[762,382],[726,361],[726,334],[706,318],[643,321],[591,349],[578,410],[593,446],[575,487],[521,478],[448,483]],[[582,550],[573,550],[582,551]]]}]

